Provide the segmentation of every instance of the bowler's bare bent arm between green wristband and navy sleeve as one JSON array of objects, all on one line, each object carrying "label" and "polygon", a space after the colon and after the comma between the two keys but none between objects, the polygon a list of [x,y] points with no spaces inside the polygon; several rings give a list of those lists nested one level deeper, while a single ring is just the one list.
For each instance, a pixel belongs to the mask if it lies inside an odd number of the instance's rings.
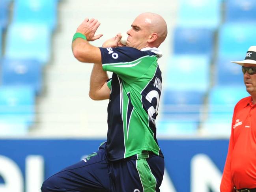
[{"label": "bowler's bare bent arm between green wristband and navy sleeve", "polygon": [[77,38],[72,43],[72,52],[75,58],[84,63],[101,63],[101,51],[88,41]]}]

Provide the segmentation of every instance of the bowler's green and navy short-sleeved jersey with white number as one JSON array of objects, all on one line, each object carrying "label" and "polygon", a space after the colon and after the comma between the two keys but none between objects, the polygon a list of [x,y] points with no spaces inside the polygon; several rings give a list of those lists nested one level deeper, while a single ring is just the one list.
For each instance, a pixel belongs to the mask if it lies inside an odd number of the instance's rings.
[{"label": "bowler's green and navy short-sleeved jersey with white number", "polygon": [[107,155],[119,160],[152,151],[163,156],[156,138],[155,119],[162,88],[157,48],[100,48],[102,67],[112,71],[107,84]]}]

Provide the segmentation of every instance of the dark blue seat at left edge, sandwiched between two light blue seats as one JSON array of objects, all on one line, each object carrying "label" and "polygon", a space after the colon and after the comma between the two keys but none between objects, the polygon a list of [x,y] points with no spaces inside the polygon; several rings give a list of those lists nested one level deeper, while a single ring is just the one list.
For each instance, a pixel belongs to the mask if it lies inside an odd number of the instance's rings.
[{"label": "dark blue seat at left edge, sandwiched between two light blue seats", "polygon": [[4,59],[1,77],[4,86],[32,86],[36,94],[41,92],[42,65],[37,61]]}]

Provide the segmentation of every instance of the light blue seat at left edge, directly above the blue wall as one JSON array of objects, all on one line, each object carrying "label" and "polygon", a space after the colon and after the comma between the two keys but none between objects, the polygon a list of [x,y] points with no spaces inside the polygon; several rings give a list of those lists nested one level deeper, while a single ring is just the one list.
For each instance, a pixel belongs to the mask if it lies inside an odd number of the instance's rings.
[{"label": "light blue seat at left edge, directly above the blue wall", "polygon": [[26,134],[34,121],[34,90],[30,86],[0,86],[1,135]]}]

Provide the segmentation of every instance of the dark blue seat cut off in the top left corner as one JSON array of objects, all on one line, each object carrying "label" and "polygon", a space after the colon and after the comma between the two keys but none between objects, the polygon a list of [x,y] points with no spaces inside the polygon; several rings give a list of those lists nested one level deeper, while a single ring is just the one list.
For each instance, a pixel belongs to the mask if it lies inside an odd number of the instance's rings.
[{"label": "dark blue seat cut off in the top left corner", "polygon": [[0,31],[6,30],[9,21],[10,0],[0,1]]}]

